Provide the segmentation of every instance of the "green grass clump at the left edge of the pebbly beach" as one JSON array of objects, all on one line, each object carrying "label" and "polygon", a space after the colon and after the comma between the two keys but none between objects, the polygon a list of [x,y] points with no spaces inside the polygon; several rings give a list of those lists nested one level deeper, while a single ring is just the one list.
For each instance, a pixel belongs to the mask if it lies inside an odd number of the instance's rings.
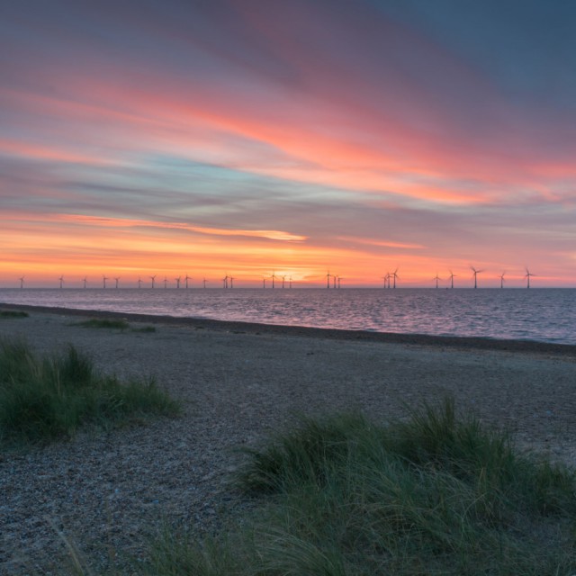
[{"label": "green grass clump at the left edge of the pebbly beach", "polygon": [[83,424],[108,427],[150,415],[172,415],[175,401],[151,380],[121,383],[99,374],[69,346],[39,358],[23,342],[0,342],[0,444],[20,446],[74,434]]}]

